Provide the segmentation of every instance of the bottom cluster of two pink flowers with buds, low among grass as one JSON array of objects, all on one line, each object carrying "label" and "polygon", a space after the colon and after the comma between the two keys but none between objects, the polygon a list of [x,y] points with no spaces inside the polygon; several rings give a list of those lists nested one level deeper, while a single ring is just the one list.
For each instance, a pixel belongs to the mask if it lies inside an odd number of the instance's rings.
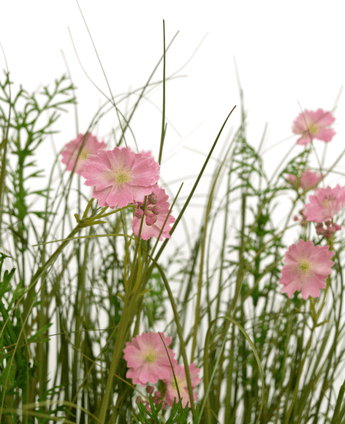
[{"label": "bottom cluster of two pink flowers with buds, low among grass", "polygon": [[[167,348],[176,377],[175,382],[169,357],[160,335],[164,340],[164,344],[169,346],[172,341],[172,337],[165,337],[164,333],[152,333],[152,331],[142,333],[140,336],[132,338],[131,342],[126,343],[126,347],[124,348],[124,358],[127,361],[127,366],[129,367],[126,377],[132,378],[133,384],[141,384],[143,387],[145,387],[146,383],[155,384],[158,380],[162,380],[166,385],[165,397],[166,403],[169,406],[173,405],[175,398],[176,401],[178,401],[178,387],[182,398],[182,406],[184,408],[190,400],[185,369],[182,365],[177,363],[176,359],[174,359],[175,353],[171,349]],[[201,369],[196,368],[195,363],[189,366],[193,390],[200,382],[200,378],[198,377],[198,373],[200,371]],[[151,388],[147,390],[149,393],[153,393]],[[194,400],[197,399],[197,395],[194,392],[193,398]],[[160,392],[156,392],[153,399],[154,403],[160,403],[163,401],[161,399]],[[140,398],[137,398],[137,401],[139,400]],[[147,401],[145,404],[148,408]],[[165,405],[163,404],[163,406]]]}]

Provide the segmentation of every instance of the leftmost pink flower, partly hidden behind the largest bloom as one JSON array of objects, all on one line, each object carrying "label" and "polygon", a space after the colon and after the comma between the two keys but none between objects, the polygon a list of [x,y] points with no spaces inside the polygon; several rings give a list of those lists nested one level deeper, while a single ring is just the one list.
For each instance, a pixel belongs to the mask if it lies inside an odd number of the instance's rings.
[{"label": "leftmost pink flower, partly hidden behind the largest bloom", "polygon": [[[85,135],[79,134],[77,138],[66,144],[65,149],[61,152],[61,162],[67,165],[67,171],[72,171],[74,164],[77,161],[74,172],[81,175],[82,172],[87,170],[85,166],[87,162],[87,155],[95,155],[99,150],[105,149],[106,147],[107,144],[104,141],[98,141],[97,137],[91,135],[89,132]],[[80,149],[81,152],[78,156]]]}]

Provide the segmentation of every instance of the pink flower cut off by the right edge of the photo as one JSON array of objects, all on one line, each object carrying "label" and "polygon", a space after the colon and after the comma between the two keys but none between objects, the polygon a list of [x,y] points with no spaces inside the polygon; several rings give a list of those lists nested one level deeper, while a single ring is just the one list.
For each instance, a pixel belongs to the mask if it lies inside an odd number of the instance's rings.
[{"label": "pink flower cut off by the right edge of the photo", "polygon": [[339,184],[335,188],[330,186],[319,188],[315,196],[310,195],[305,205],[305,218],[307,221],[325,222],[332,219],[345,206],[345,187]]}]

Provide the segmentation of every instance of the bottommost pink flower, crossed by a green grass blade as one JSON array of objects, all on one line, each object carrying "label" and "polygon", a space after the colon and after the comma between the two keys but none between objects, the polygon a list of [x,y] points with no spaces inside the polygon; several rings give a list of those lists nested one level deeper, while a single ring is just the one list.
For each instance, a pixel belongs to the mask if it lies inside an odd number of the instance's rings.
[{"label": "bottommost pink flower, crossed by a green grass blade", "polygon": [[[165,392],[165,398],[166,398],[167,404],[172,407],[174,403],[174,398],[176,398],[176,403],[179,401],[179,398],[178,398],[178,393],[176,389],[174,374],[171,369],[169,371],[170,371],[169,378],[163,379],[163,381],[167,385],[167,390]],[[201,371],[201,368],[196,368],[194,362],[189,366],[189,374],[190,374],[193,390],[201,381],[201,379],[197,376],[200,371]],[[182,398],[182,407],[184,408],[187,405],[187,402],[190,401],[186,372],[182,365],[174,366],[174,372],[175,372],[180,396]],[[193,392],[193,398],[194,400],[197,400],[198,398],[197,394],[194,392]]]}]

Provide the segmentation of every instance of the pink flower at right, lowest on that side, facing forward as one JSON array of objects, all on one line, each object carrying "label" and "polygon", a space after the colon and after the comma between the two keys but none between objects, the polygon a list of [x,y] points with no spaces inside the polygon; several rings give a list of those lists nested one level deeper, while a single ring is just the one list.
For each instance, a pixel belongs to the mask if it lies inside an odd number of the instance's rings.
[{"label": "pink flower at right, lowest on that side, facing forward", "polygon": [[329,246],[314,246],[311,240],[300,240],[292,244],[285,253],[285,263],[279,284],[283,284],[282,293],[292,297],[295,291],[301,291],[304,300],[308,296],[319,297],[320,289],[326,288],[325,278],[331,274],[334,262],[330,258]]}]

